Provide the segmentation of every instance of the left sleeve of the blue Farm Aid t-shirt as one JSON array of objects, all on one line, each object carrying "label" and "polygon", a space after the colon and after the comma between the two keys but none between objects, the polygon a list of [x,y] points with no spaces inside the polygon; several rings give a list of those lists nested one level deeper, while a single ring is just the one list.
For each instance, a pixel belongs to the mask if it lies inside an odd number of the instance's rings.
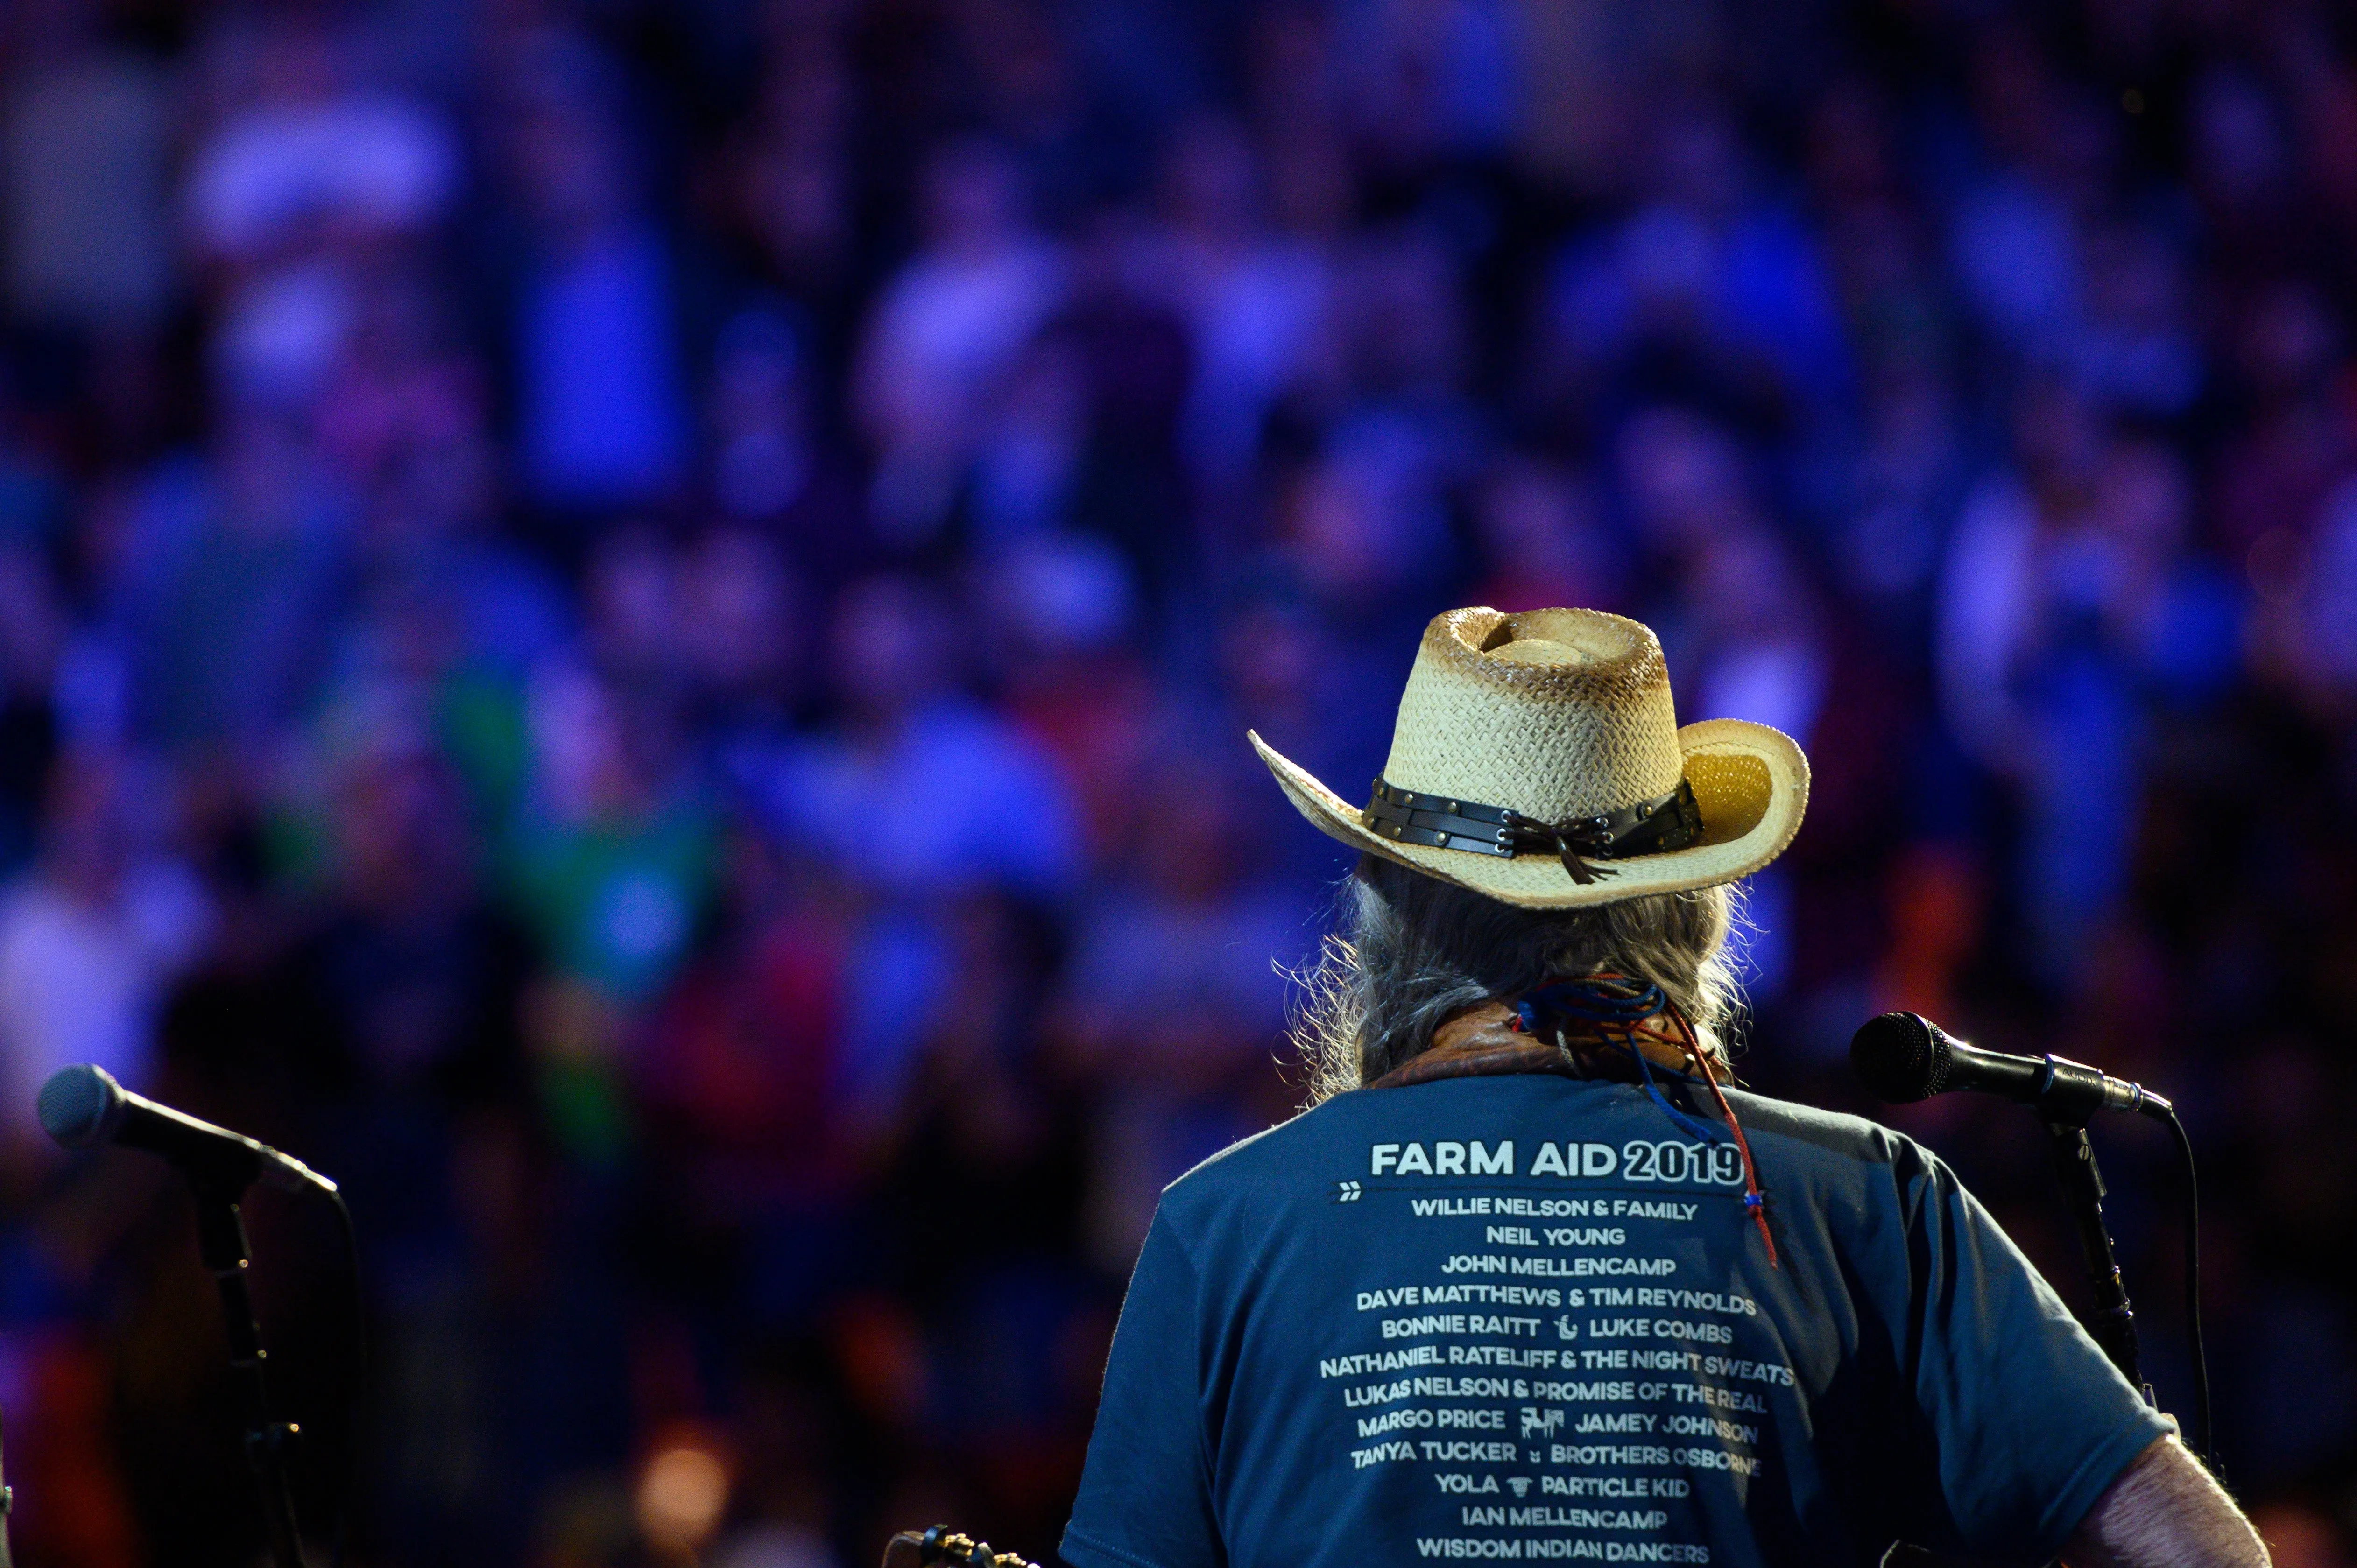
[{"label": "left sleeve of the blue Farm Aid t-shirt", "polygon": [[1155,1214],[1113,1332],[1072,1523],[1072,1568],[1223,1568],[1202,1419],[1197,1276]]}]

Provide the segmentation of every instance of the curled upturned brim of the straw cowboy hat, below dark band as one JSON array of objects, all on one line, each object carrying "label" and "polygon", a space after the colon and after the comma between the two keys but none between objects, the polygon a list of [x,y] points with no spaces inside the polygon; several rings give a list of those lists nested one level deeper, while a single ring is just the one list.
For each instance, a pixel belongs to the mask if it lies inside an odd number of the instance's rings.
[{"label": "curled upturned brim of the straw cowboy hat, below dark band", "polygon": [[1678,731],[1685,780],[1702,806],[1702,842],[1652,856],[1603,861],[1610,877],[1579,884],[1549,854],[1508,858],[1468,849],[1426,849],[1376,837],[1353,806],[1306,769],[1247,731],[1285,797],[1313,828],[1351,849],[1398,861],[1428,877],[1532,910],[1570,910],[1643,894],[1716,887],[1775,861],[1808,809],[1808,757],[1780,729],[1749,719],[1704,719]]}]

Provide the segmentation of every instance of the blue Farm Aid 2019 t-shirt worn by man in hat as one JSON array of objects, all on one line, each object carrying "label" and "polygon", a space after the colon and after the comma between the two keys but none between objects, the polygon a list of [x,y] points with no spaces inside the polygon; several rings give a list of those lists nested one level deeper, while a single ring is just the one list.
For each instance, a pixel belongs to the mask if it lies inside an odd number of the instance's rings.
[{"label": "blue Farm Aid 2019 t-shirt worn by man in hat", "polygon": [[2046,1561],[2173,1424],[1919,1144],[1553,1075],[1360,1089],[1162,1195],[1075,1568]]}]

